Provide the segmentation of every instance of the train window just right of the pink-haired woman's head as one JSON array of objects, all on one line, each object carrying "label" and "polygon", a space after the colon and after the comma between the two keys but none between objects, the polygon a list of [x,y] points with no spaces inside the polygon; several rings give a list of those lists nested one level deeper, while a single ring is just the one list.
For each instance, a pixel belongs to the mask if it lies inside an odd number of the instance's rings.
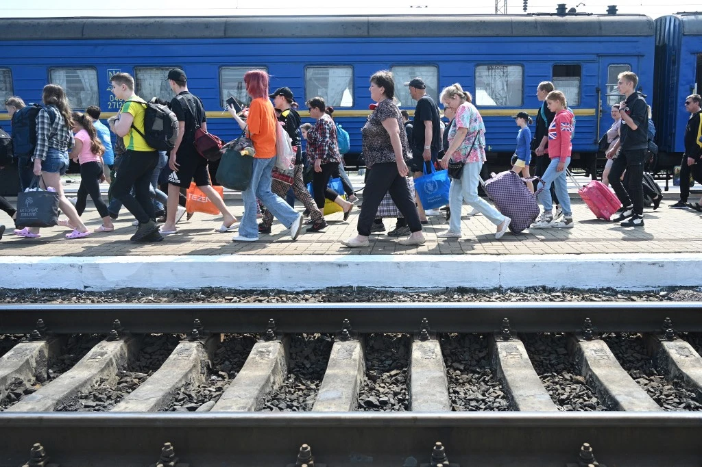
[{"label": "train window just right of the pink-haired woman's head", "polygon": [[305,67],[305,100],[324,97],[327,105],[353,106],[353,67]]}]

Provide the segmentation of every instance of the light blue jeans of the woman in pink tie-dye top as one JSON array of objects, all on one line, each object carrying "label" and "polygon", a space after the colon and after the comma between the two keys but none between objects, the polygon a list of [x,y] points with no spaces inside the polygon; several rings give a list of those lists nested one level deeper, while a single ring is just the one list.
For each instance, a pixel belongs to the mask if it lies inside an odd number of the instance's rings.
[{"label": "light blue jeans of the woman in pink tie-dye top", "polygon": [[449,189],[449,208],[451,209],[449,231],[453,233],[461,233],[461,208],[464,201],[478,212],[482,212],[482,215],[495,225],[500,225],[505,221],[505,216],[500,211],[478,196],[482,165],[482,162],[465,163],[461,178],[459,180],[451,180],[451,189]]}]

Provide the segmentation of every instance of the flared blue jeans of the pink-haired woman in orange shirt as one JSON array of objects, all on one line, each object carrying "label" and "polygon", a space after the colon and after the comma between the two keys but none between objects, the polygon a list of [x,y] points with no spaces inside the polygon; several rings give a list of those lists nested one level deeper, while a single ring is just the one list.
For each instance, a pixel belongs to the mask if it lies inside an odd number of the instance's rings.
[{"label": "flared blue jeans of the pink-haired woman in orange shirt", "polygon": [[286,203],[283,198],[270,191],[270,184],[273,182],[271,171],[275,165],[275,158],[253,158],[253,168],[251,183],[249,188],[244,190],[241,197],[244,198],[244,216],[241,217],[239,225],[239,235],[248,238],[258,238],[258,224],[256,224],[256,198],[277,217],[286,229],[298,218],[298,213]]}]

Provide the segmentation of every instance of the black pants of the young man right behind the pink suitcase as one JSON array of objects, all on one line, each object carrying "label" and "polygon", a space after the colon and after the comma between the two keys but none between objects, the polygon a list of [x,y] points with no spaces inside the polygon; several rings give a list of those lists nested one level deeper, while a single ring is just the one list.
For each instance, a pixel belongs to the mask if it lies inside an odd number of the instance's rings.
[{"label": "black pants of the young man right behind the pink suitcase", "polygon": [[[644,214],[644,158],[646,149],[619,149],[609,170],[609,183],[624,207],[634,206],[634,214]],[[621,181],[624,170],[628,173],[627,187]]]}]

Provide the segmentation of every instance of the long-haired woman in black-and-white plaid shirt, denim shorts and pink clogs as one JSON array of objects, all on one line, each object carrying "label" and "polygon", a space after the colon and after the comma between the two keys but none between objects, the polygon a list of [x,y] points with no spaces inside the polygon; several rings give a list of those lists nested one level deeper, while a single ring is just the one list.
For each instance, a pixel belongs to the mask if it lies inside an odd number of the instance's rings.
[{"label": "long-haired woman in black-and-white plaid shirt, denim shorts and pink clogs", "polygon": [[[73,147],[73,119],[66,93],[58,84],[47,84],[41,95],[46,109],[37,115],[37,147],[34,149],[34,175],[43,189],[51,187],[58,193],[58,207],[68,217],[74,230],[66,238],[83,238],[91,231],[83,224],[76,208],[68,201],[61,186],[61,175],[68,169],[68,149]],[[48,112],[55,117],[53,123]],[[15,230],[15,235],[26,238],[40,237],[37,227]]]}]

